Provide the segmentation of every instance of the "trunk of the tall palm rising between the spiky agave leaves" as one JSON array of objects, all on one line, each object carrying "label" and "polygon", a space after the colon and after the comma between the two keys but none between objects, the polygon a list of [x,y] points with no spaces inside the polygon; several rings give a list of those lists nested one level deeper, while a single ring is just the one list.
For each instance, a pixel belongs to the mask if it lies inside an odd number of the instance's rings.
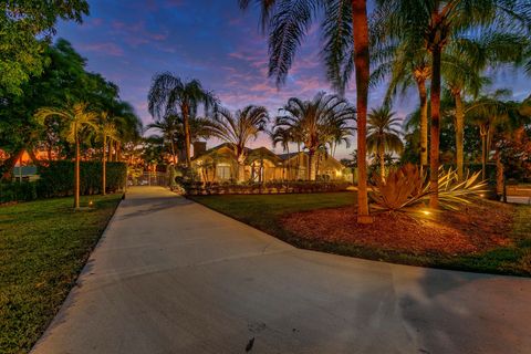
[{"label": "trunk of the tall palm rising between the spiky agave leaves", "polygon": [[429,146],[429,207],[439,207],[439,139],[440,139],[440,52],[439,45],[431,51],[431,126]]}]

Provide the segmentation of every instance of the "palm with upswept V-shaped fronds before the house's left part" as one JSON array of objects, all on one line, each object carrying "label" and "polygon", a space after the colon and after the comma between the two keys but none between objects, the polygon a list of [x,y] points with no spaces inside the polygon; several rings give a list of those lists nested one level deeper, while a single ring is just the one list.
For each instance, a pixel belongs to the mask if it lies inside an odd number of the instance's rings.
[{"label": "palm with upswept V-shaped fronds before the house's left part", "polygon": [[244,180],[247,144],[266,129],[269,122],[268,110],[248,105],[232,115],[228,110],[218,107],[208,128],[211,136],[229,143],[238,162],[238,181]]}]

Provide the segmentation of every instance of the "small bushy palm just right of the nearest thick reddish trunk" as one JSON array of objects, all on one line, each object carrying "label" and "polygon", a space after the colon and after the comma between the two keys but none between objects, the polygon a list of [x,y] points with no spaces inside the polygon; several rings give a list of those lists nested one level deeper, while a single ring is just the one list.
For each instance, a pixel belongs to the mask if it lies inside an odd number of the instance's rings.
[{"label": "small bushy palm just right of the nearest thick reddish trunk", "polygon": [[396,118],[394,112],[388,106],[372,110],[368,114],[367,126],[367,148],[371,153],[378,156],[379,174],[385,178],[385,154],[389,152],[402,153],[404,144],[398,131],[399,118]]}]

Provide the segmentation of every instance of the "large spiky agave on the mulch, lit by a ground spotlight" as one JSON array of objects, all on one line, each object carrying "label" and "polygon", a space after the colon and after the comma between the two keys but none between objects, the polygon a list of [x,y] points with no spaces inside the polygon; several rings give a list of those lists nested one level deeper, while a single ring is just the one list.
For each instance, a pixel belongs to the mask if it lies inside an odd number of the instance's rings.
[{"label": "large spiky agave on the mulch, lit by a ground spotlight", "polygon": [[[487,183],[479,179],[480,171],[467,174],[459,179],[457,170],[439,168],[440,207],[458,210],[460,205],[471,204],[487,189]],[[412,164],[391,170],[387,178],[376,176],[373,191],[373,208],[387,211],[418,212],[418,207],[426,206],[431,191],[426,173]]]}]

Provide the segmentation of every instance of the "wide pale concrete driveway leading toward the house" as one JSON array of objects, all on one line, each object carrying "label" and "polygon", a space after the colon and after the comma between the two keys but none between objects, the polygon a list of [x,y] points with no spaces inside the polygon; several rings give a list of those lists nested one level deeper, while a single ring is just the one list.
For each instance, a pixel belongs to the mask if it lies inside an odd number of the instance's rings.
[{"label": "wide pale concrete driveway leading toward the house", "polygon": [[530,353],[531,280],[295,249],[133,188],[40,353]]}]

